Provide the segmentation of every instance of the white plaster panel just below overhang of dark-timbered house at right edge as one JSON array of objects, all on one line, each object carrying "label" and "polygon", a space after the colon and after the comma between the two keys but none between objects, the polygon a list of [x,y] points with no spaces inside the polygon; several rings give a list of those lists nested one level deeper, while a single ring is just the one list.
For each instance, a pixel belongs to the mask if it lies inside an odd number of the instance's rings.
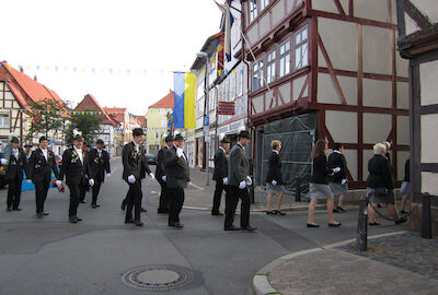
[{"label": "white plaster panel just below overhang of dark-timbered house at right edge", "polygon": [[422,105],[438,104],[438,60],[419,64],[419,79]]}]

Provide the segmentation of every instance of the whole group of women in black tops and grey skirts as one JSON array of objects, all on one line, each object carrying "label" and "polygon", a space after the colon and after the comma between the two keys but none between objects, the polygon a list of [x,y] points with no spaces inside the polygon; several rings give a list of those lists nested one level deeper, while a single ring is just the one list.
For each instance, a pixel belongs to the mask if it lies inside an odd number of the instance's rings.
[{"label": "whole group of women in black tops and grey skirts", "polygon": [[[394,180],[392,173],[391,158],[389,155],[389,142],[377,143],[373,146],[374,155],[368,162],[368,179],[367,194],[369,199],[368,215],[369,225],[379,225],[376,222],[376,209],[380,204],[387,204],[388,212],[392,215],[397,224],[399,215],[394,206]],[[285,215],[281,212],[281,200],[286,189],[281,177],[281,161],[279,152],[281,142],[274,140],[270,143],[273,149],[268,158],[268,172],[266,175],[267,191],[267,210],[268,215]],[[309,212],[307,227],[320,227],[314,221],[314,211],[318,200],[326,201],[326,210],[328,214],[327,225],[330,227],[341,226],[341,222],[334,219],[333,212],[345,212],[344,198],[348,192],[346,160],[343,154],[343,146],[335,143],[333,152],[327,157],[327,142],[318,140],[311,153],[312,157],[312,176],[309,186]],[[405,178],[401,192],[403,193],[402,213],[406,213],[405,204],[408,198],[408,180],[410,180],[410,161],[405,164]],[[273,198],[278,194],[276,209],[272,210]],[[338,197],[335,208],[334,198]]]}]

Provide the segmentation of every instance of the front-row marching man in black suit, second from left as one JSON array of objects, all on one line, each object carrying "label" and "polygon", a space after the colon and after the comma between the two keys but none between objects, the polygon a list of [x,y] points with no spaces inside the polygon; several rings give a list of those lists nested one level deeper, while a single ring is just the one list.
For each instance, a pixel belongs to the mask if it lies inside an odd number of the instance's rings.
[{"label": "front-row marching man in black suit, second from left", "polygon": [[[48,151],[47,148],[47,137],[41,137],[39,146],[32,152],[26,169],[26,181],[31,182],[32,179],[35,185],[36,215],[38,219],[48,215],[47,212],[44,212],[44,202],[46,201],[48,188],[50,187],[51,172],[54,172],[56,178],[59,178],[55,154]],[[60,184],[61,181],[57,180],[58,187]]]}]

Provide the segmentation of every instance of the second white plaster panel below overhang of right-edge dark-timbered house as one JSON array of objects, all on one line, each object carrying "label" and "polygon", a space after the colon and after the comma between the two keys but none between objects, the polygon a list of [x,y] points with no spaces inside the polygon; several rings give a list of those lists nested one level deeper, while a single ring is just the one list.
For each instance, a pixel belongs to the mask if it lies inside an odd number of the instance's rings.
[{"label": "second white plaster panel below overhang of right-edge dark-timbered house", "polygon": [[422,163],[438,163],[438,114],[422,116]]}]

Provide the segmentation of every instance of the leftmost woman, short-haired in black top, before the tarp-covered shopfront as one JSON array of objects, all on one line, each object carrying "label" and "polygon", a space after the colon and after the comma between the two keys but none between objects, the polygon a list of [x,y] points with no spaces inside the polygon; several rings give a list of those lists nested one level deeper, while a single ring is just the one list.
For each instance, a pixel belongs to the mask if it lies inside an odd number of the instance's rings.
[{"label": "leftmost woman, short-haired in black top, before the tarp-covered shopfront", "polygon": [[[281,212],[281,199],[285,193],[285,187],[283,186],[281,178],[281,161],[279,152],[281,150],[281,142],[279,140],[273,140],[270,142],[270,148],[273,152],[269,155],[269,166],[266,175],[266,190],[267,190],[267,211],[268,215],[285,215]],[[278,194],[276,210],[272,210],[273,198]]]}]

